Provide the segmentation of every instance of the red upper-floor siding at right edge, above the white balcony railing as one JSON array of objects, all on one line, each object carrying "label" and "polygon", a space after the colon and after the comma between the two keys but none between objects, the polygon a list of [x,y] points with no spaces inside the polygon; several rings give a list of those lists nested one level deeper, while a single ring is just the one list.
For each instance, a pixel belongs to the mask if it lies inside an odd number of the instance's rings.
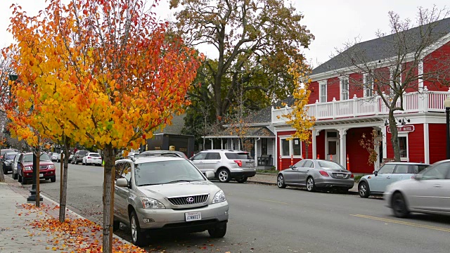
[{"label": "red upper-floor siding at right edge, above the white balcony railing", "polygon": [[[439,70],[439,72],[447,73],[446,80],[449,81],[450,77],[448,73],[450,72],[448,61],[450,58],[450,42],[437,48],[435,51],[430,53],[428,56],[423,58],[423,73],[434,72]],[[425,80],[423,82],[424,86],[427,86],[430,91],[448,91],[449,87],[440,84],[439,82],[433,82],[432,79]]]}]

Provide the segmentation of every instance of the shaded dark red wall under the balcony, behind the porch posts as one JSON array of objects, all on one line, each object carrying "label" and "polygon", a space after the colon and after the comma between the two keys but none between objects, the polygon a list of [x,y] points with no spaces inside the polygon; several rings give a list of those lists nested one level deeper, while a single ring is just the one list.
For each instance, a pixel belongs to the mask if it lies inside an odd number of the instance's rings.
[{"label": "shaded dark red wall under the balcony, behind the porch posts", "polygon": [[368,152],[359,145],[363,134],[370,138],[372,127],[361,127],[347,130],[347,155],[349,155],[350,171],[353,173],[372,173],[373,164],[368,164]]}]

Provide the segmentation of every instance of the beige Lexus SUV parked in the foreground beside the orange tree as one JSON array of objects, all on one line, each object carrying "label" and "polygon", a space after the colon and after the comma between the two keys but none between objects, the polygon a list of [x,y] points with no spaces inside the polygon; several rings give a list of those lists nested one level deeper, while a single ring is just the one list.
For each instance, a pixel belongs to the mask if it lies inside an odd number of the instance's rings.
[{"label": "beige Lexus SUV parked in the foreground beside the orange tree", "polygon": [[139,157],[115,165],[113,229],[131,228],[131,242],[144,245],[153,231],[184,233],[207,230],[212,238],[226,234],[229,205],[224,192],[181,157]]}]

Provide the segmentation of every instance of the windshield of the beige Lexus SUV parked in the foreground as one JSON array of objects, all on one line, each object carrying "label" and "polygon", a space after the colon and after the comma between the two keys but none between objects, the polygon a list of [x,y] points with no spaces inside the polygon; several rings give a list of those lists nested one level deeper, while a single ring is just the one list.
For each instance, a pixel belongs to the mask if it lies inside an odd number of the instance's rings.
[{"label": "windshield of the beige Lexus SUV parked in the foreground", "polygon": [[146,162],[134,167],[136,186],[205,181],[203,175],[187,160]]}]

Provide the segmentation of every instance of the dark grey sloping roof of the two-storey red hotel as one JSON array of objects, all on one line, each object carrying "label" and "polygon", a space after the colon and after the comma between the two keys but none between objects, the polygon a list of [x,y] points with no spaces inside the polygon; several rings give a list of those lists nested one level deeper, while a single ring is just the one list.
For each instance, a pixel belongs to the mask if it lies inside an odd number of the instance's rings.
[{"label": "dark grey sloping roof of the two-storey red hotel", "polygon": [[[439,39],[442,39],[446,34],[450,33],[450,18],[445,18],[442,20],[437,20],[428,25],[423,25],[422,27],[413,27],[409,30],[404,31],[404,41],[406,42],[406,53],[412,53],[417,50],[421,42],[420,32],[425,32],[430,25],[435,25],[432,27],[431,39],[428,41],[428,45],[436,43]],[[375,60],[382,60],[386,58],[392,58],[397,56],[397,51],[395,50],[395,38],[396,34],[390,34],[385,37],[380,37],[377,39],[372,39],[369,41],[360,42],[354,46],[347,48],[344,52],[338,54],[328,60],[326,63],[319,65],[319,67],[312,70],[312,75],[321,74],[323,72],[328,72],[330,70],[339,70],[344,67],[351,67],[355,64],[370,63]],[[422,36],[422,37],[427,37]],[[349,57],[355,56],[355,57]],[[354,60],[354,62],[351,62]]]}]

